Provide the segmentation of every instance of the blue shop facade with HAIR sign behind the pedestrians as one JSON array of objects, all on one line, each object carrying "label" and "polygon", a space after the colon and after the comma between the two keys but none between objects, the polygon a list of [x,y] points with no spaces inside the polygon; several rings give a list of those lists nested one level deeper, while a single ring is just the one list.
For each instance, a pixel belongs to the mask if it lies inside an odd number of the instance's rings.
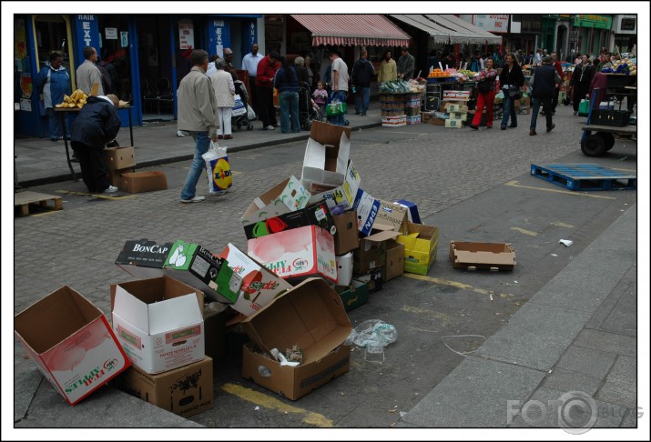
[{"label": "blue shop facade with HAIR sign behind the pedestrians", "polygon": [[[127,4],[124,5],[128,7]],[[178,83],[188,74],[193,48],[223,56],[233,50],[234,65],[264,41],[263,15],[14,15],[15,132],[47,136],[46,116],[39,112],[40,96],[33,80],[56,51],[76,90],[76,68],[84,62],[88,45],[97,49],[102,65],[117,71],[114,93],[131,105],[134,126],[147,118],[176,119]],[[263,47],[260,45],[260,52]],[[168,85],[168,99],[158,100]],[[19,109],[19,110],[17,110]],[[128,111],[120,111],[128,126]]]}]

